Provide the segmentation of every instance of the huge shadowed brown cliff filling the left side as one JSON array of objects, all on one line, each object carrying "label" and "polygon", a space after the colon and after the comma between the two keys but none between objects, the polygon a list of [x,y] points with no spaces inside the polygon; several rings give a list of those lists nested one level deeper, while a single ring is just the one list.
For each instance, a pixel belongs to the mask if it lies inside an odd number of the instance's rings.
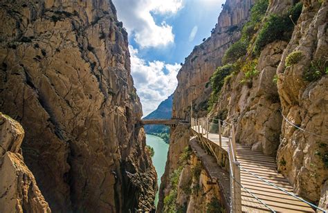
[{"label": "huge shadowed brown cliff filling the left side", "polygon": [[0,108],[54,212],[152,210],[127,33],[111,1],[1,1]]}]

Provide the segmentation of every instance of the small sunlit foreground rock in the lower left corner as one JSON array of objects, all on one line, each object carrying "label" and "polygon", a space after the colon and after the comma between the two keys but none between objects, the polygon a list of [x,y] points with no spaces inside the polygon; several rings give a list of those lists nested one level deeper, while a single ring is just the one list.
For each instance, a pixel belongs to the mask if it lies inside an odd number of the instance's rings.
[{"label": "small sunlit foreground rock in the lower left corner", "polygon": [[21,156],[24,129],[0,113],[0,212],[51,212]]}]

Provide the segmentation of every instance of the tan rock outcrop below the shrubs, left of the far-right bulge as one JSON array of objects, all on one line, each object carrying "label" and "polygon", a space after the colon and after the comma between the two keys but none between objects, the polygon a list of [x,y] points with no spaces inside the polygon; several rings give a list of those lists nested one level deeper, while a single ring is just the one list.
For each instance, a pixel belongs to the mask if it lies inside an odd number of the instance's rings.
[{"label": "tan rock outcrop below the shrubs, left of the far-right bulge", "polygon": [[236,124],[236,139],[255,151],[275,155],[279,146],[282,116],[277,86],[273,82],[285,41],[268,44],[259,55],[259,74],[241,83],[244,73],[233,75],[224,85],[210,117],[227,111],[226,121]]}]

